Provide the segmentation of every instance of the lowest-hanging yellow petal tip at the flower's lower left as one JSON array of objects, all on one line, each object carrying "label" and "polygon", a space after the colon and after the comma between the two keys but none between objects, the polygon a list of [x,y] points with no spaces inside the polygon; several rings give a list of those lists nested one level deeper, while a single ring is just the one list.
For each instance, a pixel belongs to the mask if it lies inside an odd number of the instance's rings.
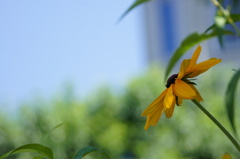
[{"label": "lowest-hanging yellow petal tip at the flower's lower left", "polygon": [[159,118],[162,115],[162,110],[163,110],[163,105],[161,104],[160,106],[157,107],[157,110],[155,112],[152,112],[147,116],[147,121],[144,126],[144,129],[147,130],[149,126],[156,126]]}]

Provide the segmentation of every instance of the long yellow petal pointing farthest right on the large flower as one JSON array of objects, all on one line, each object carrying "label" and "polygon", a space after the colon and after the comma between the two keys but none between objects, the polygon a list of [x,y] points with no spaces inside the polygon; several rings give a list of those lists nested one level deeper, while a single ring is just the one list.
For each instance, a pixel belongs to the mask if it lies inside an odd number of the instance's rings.
[{"label": "long yellow petal pointing farthest right on the large flower", "polygon": [[199,64],[192,67],[191,69],[192,73],[188,77],[189,78],[196,77],[199,74],[206,72],[209,68],[215,66],[221,61],[222,61],[221,59],[211,58],[207,61],[200,62]]}]

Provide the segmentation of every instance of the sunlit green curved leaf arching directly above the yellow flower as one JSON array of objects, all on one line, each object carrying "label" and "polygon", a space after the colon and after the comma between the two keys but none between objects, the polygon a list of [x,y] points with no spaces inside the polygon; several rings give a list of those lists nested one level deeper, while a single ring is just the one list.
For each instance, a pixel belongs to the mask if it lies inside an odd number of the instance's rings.
[{"label": "sunlit green curved leaf arching directly above the yellow flower", "polygon": [[[230,31],[223,30],[223,34],[232,34]],[[177,48],[177,50],[174,52],[173,56],[171,57],[166,73],[165,73],[165,79],[168,77],[169,73],[173,69],[174,65],[177,63],[177,61],[194,45],[199,44],[202,41],[205,41],[207,39],[216,37],[218,34],[217,32],[212,32],[209,34],[198,34],[198,33],[192,33],[188,35],[181,43],[181,45]]]}]

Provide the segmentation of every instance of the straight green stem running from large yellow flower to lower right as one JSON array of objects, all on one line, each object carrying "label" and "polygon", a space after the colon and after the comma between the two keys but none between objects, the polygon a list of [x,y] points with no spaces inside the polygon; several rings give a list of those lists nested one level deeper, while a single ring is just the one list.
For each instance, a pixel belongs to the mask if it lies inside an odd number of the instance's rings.
[{"label": "straight green stem running from large yellow flower to lower right", "polygon": [[237,148],[237,150],[240,152],[240,145],[239,143],[233,138],[233,136],[222,126],[219,121],[212,116],[197,100],[192,100],[194,104],[198,106],[199,109],[203,111],[204,114],[206,114],[218,127],[222,130],[222,132],[228,137],[228,139],[232,142],[232,144]]}]

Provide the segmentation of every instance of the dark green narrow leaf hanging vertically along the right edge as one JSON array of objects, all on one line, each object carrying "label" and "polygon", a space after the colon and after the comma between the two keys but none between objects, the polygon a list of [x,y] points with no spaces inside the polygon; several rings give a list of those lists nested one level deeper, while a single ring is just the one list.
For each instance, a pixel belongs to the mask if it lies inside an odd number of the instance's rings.
[{"label": "dark green narrow leaf hanging vertically along the right edge", "polygon": [[232,79],[230,80],[227,87],[226,95],[225,95],[225,106],[227,109],[228,119],[230,121],[230,124],[235,134],[237,133],[236,133],[235,123],[234,123],[234,107],[235,107],[234,99],[235,99],[236,87],[237,87],[239,78],[240,78],[240,69],[235,72]]}]

